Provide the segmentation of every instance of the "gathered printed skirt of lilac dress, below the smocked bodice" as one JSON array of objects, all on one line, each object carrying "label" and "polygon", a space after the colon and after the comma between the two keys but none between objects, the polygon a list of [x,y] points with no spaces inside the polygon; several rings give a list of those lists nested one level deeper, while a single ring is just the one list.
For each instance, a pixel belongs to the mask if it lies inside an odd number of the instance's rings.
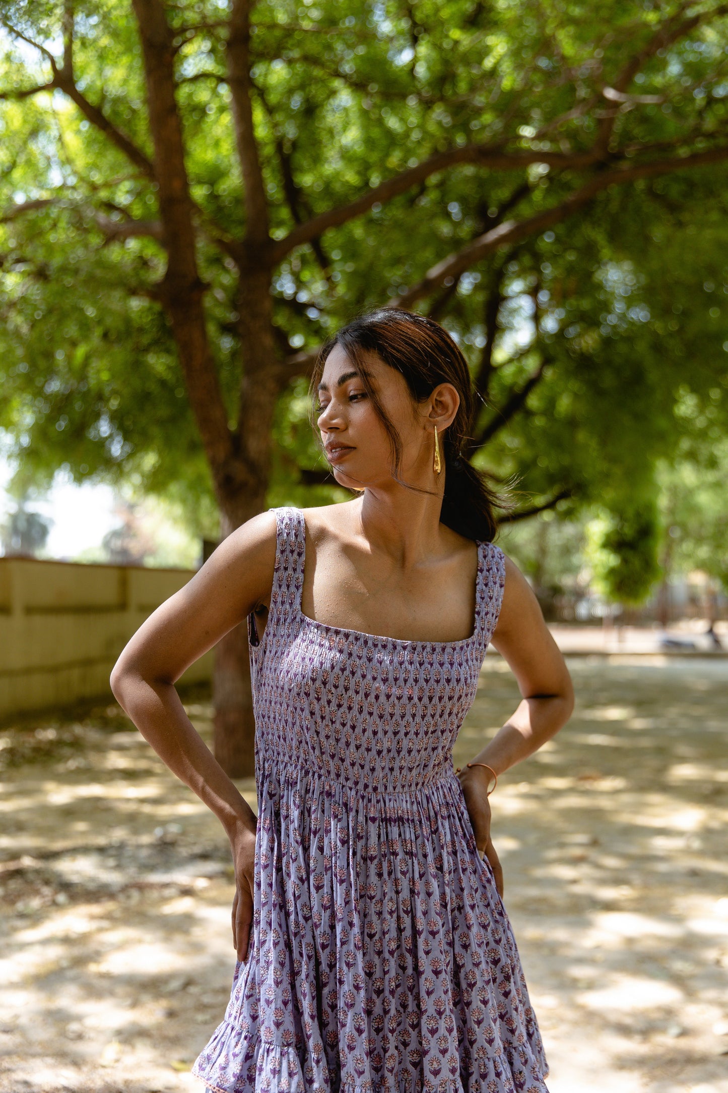
[{"label": "gathered printed skirt of lilac dress, below the smocked bodice", "polygon": [[351,792],[261,753],[251,944],[192,1072],[215,1093],[548,1093],[460,780]]}]

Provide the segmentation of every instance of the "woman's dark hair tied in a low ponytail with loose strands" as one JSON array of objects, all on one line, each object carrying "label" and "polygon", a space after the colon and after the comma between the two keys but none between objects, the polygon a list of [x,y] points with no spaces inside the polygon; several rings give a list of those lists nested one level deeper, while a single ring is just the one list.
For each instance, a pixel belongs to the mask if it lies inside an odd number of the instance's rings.
[{"label": "woman's dark hair tied in a low ponytail with loose strands", "polygon": [[361,376],[377,415],[386,430],[394,457],[393,477],[408,490],[432,493],[403,482],[399,475],[402,440],[371,386],[366,353],[375,353],[391,368],[404,376],[413,398],[420,402],[438,384],[452,384],[460,395],[454,420],[442,437],[445,466],[445,491],[440,521],[466,539],[491,542],[498,530],[497,507],[506,507],[486,482],[485,475],[468,461],[464,451],[473,439],[475,418],[473,381],[467,361],[454,340],[439,322],[402,308],[382,307],[361,315],[343,327],[322,345],[313,368],[309,395],[311,424],[315,431],[318,385],[326,359],[339,345]]}]

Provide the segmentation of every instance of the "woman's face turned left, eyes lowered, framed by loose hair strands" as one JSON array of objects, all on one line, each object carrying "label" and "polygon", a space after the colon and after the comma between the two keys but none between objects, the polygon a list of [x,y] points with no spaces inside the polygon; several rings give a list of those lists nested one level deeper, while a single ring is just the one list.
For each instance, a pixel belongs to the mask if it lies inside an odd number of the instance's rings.
[{"label": "woman's face turned left, eyes lowered, framed by loose hair strands", "polygon": [[[402,439],[399,477],[417,481],[432,466],[434,433],[428,421],[428,402],[418,408],[401,373],[375,354],[367,355],[367,367],[371,386]],[[355,490],[391,483],[390,437],[341,345],[335,345],[326,359],[319,408],[317,424],[336,481]]]}]

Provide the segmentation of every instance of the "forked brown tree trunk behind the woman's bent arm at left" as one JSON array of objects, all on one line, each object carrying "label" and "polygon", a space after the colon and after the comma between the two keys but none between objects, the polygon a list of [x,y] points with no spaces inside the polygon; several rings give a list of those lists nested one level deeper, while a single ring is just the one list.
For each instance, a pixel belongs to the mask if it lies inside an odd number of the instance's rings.
[{"label": "forked brown tree trunk behind the woman's bent arm at left", "polygon": [[[250,407],[244,398],[241,400],[238,430],[231,433],[207,341],[202,298],[205,286],[198,270],[192,202],[176,102],[174,36],[160,0],[133,0],[133,5],[142,39],[154,169],[167,251],[167,270],[158,294],[171,320],[190,404],[220,506],[220,538],[225,539],[265,506],[270,431],[277,396],[272,376],[276,361],[271,327],[270,265],[260,269],[265,250],[261,251],[259,246],[252,261],[253,267],[258,266],[258,278],[250,285],[252,298],[246,298],[241,307],[243,372],[247,378],[252,362],[250,378],[254,397]],[[258,222],[256,228],[261,230]],[[250,265],[250,259],[247,261]],[[241,269],[246,289],[248,272]],[[255,728],[244,620],[217,643],[213,701],[215,757],[231,777],[253,775]]]}]

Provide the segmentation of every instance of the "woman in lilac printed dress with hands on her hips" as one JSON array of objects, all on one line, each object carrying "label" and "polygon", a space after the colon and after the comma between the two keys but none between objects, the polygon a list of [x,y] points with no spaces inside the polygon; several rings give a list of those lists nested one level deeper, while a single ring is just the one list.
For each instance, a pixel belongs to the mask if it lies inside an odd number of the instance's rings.
[{"label": "woman in lilac printed dress with hands on her hips", "polygon": [[[488,797],[573,698],[461,457],[467,364],[437,322],[383,309],[324,346],[311,389],[334,477],[358,496],[248,520],[111,675],[232,849],[232,992],[193,1072],[222,1093],[542,1093]],[[174,686],[244,619],[258,816]],[[523,701],[454,771],[490,640]]]}]

